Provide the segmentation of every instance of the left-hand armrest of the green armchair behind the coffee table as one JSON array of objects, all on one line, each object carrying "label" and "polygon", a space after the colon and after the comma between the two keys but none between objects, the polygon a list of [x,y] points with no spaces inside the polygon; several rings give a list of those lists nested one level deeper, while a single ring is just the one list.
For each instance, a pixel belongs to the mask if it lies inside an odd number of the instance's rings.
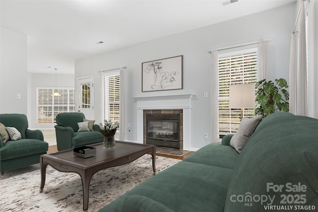
[{"label": "left-hand armrest of the green armchair behind the coffee table", "polygon": [[58,150],[66,150],[72,148],[72,138],[75,136],[71,127],[62,127],[55,125],[56,142]]}]

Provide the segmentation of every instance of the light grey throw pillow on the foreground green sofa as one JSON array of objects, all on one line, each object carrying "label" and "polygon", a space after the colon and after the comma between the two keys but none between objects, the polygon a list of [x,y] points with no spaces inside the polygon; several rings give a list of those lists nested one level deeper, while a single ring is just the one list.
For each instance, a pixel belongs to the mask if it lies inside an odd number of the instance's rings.
[{"label": "light grey throw pillow on the foreground green sofa", "polygon": [[230,141],[231,146],[233,146],[240,153],[246,141],[252,135],[261,120],[261,115],[255,116],[253,118],[243,118],[239,124],[238,131]]}]

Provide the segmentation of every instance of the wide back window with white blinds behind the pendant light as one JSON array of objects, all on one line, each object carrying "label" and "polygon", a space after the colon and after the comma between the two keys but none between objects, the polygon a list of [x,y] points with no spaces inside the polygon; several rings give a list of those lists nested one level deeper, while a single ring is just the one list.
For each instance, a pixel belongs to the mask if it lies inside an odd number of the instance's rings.
[{"label": "wide back window with white blinds behind the pendant light", "polygon": [[[52,96],[57,91],[61,96]],[[74,88],[37,88],[37,124],[55,123],[59,113],[75,112]]]}]

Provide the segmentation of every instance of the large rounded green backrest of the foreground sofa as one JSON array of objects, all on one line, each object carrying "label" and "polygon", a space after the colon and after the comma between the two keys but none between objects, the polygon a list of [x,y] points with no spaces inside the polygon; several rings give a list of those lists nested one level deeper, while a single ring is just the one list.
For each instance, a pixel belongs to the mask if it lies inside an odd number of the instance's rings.
[{"label": "large rounded green backrest of the foreground sofa", "polygon": [[[260,126],[261,125],[261,126]],[[318,208],[318,120],[279,112],[264,118],[240,153],[226,198],[225,212],[264,211],[264,206],[282,206],[281,195],[305,195],[306,203]],[[272,189],[273,186],[281,190]],[[288,187],[306,186],[306,191],[288,192]],[[268,189],[269,188],[269,189]],[[248,194],[249,193],[249,194]],[[271,197],[263,203],[237,201],[239,195]],[[295,199],[296,200],[296,199]],[[249,204],[251,206],[246,206]],[[302,210],[299,210],[302,211]]]}]

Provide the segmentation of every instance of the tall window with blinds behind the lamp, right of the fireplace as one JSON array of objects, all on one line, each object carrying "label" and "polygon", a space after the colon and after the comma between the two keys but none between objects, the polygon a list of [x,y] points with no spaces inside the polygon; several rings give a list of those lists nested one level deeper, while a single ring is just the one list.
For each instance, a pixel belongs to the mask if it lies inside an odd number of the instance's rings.
[{"label": "tall window with blinds behind the lamp, right of the fireplace", "polygon": [[[235,133],[240,123],[240,108],[229,108],[229,86],[257,82],[257,48],[219,54],[219,135]],[[244,117],[254,116],[254,109],[243,108]]]}]

